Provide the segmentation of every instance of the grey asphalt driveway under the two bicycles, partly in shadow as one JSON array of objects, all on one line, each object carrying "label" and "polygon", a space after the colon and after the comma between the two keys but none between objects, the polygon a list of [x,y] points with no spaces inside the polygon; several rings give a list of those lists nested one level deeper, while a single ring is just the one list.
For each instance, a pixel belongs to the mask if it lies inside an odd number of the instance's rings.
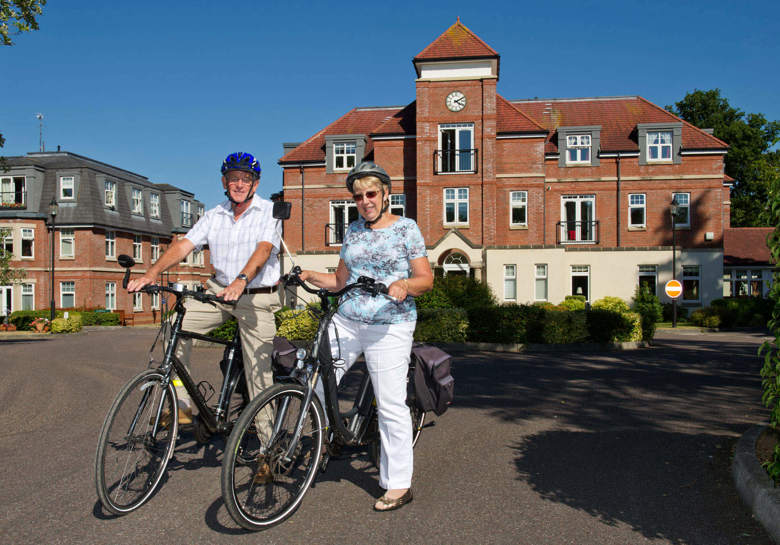
[{"label": "grey asphalt driveway under the two bicycles, partly in shadow", "polygon": [[[415,450],[415,500],[374,513],[367,456],[335,460],[282,525],[246,533],[219,488],[224,443],[183,433],[162,488],[124,517],[94,488],[100,426],[154,331],[0,342],[4,543],[767,544],[730,476],[764,421],[759,333],[659,333],[610,353],[458,355],[456,403]],[[219,352],[194,368],[216,384]],[[218,371],[216,371],[218,373]]]}]

